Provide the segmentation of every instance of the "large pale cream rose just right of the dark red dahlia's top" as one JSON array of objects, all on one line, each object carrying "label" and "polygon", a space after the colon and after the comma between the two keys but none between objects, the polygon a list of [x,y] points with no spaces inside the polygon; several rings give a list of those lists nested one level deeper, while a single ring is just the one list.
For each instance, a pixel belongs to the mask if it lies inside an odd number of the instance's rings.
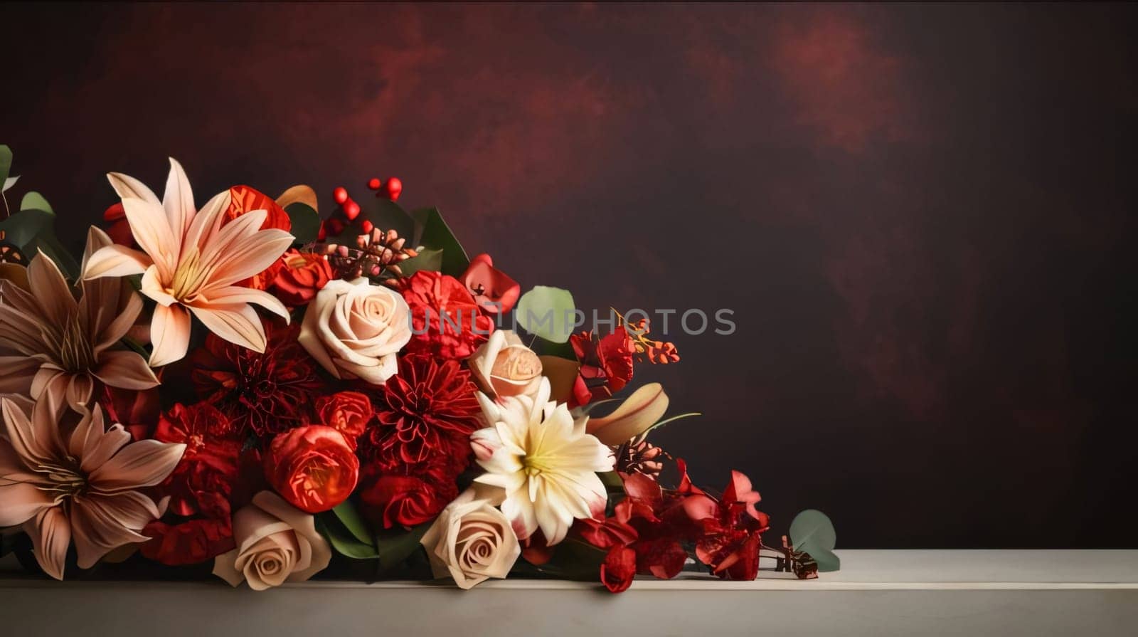
[{"label": "large pale cream rose just right of the dark red dahlia's top", "polygon": [[382,385],[411,340],[411,309],[399,293],[365,278],[329,281],[308,304],[300,344],[337,378]]}]

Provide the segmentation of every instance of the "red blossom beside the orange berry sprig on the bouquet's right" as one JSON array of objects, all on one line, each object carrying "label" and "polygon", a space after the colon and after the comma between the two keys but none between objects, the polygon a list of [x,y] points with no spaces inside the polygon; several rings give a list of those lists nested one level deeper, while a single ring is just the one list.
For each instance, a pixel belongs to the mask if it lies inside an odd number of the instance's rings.
[{"label": "red blossom beside the orange berry sprig on the bouquet's right", "polygon": [[636,343],[624,328],[603,337],[582,332],[570,336],[569,342],[580,361],[570,407],[610,398],[632,381]]}]

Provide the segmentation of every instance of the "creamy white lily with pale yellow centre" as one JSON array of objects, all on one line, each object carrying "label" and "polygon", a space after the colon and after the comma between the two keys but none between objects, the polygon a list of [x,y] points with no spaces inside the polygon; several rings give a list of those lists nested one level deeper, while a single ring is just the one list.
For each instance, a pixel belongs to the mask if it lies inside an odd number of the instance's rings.
[{"label": "creamy white lily with pale yellow centre", "polygon": [[490,426],[471,435],[487,472],[475,482],[505,490],[502,513],[519,539],[541,529],[554,545],[574,518],[604,513],[608,496],[596,472],[612,471],[612,450],[585,433],[587,417],[575,422],[564,403],[550,401],[547,379],[533,397],[495,403],[479,393],[478,401]]}]

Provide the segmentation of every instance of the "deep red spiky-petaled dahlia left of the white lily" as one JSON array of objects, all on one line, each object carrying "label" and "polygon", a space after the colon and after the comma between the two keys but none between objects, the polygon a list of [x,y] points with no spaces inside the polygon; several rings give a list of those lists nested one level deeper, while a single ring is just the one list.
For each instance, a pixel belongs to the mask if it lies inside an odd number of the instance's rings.
[{"label": "deep red spiky-petaled dahlia left of the white lily", "polygon": [[470,434],[483,426],[476,391],[470,371],[456,360],[402,357],[399,373],[374,390],[368,455],[388,473],[443,458],[457,475],[469,463]]}]

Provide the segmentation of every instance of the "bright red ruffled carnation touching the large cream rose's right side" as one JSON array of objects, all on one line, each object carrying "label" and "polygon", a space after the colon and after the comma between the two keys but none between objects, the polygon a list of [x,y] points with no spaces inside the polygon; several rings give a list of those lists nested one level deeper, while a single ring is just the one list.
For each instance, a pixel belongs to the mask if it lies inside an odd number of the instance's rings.
[{"label": "bright red ruffled carnation touching the large cream rose's right side", "polygon": [[494,320],[479,312],[478,302],[454,277],[420,270],[401,286],[413,327],[407,352],[465,359],[494,330]]}]

